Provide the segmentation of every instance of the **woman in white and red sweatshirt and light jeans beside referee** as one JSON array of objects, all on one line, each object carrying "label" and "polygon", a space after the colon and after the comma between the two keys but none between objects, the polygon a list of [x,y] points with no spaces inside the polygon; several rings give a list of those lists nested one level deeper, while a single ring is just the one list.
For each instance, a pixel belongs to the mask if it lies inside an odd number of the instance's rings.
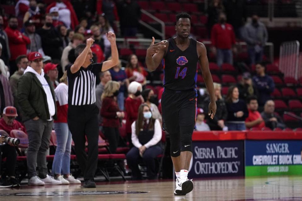
[{"label": "woman in white and red sweatshirt and light jeans beside referee", "polygon": [[57,148],[54,154],[52,174],[62,184],[81,184],[80,180],[70,175],[71,132],[67,124],[68,82],[67,71],[60,79],[60,84],[54,90],[58,117],[54,120],[54,130],[57,136]]}]

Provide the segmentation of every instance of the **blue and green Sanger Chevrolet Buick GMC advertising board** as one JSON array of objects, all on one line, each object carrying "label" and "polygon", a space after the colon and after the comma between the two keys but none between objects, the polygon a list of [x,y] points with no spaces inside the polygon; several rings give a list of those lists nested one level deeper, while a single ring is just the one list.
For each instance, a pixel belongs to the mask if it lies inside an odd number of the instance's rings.
[{"label": "blue and green Sanger Chevrolet Buick GMC advertising board", "polygon": [[245,140],[245,176],[302,175],[301,140]]}]

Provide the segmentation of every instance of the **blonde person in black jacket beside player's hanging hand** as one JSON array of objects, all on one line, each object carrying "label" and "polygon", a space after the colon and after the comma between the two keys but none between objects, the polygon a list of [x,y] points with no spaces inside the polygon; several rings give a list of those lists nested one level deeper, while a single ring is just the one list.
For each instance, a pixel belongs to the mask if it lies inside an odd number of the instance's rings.
[{"label": "blonde person in black jacket beside player's hanging hand", "polygon": [[[211,131],[227,131],[227,127],[225,126],[225,121],[227,119],[227,109],[225,100],[221,96],[221,84],[214,82],[215,89],[215,97],[216,97],[216,105],[217,110],[213,119],[206,115],[207,124],[210,126]],[[204,100],[205,105],[210,103],[210,97]],[[204,113],[207,114],[209,109],[207,107],[204,108]]]}]

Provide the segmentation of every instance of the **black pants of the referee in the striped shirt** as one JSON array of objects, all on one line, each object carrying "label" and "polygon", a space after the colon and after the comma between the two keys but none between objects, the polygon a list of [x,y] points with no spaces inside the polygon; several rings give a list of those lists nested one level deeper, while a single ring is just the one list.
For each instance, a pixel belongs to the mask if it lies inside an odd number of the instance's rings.
[{"label": "black pants of the referee in the striped shirt", "polygon": [[[75,142],[76,158],[85,179],[94,178],[98,165],[98,113],[95,104],[68,106],[68,127]],[[85,135],[88,142],[88,156],[85,152]]]}]

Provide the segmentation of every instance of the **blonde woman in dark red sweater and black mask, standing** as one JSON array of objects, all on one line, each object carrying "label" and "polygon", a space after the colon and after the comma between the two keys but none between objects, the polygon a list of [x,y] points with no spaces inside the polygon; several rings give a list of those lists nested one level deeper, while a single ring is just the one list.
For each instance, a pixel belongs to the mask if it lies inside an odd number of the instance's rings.
[{"label": "blonde woman in dark red sweater and black mask, standing", "polygon": [[125,117],[125,113],[120,112],[117,104],[119,89],[120,83],[117,81],[108,81],[102,94],[101,116],[103,117],[103,132],[109,142],[111,154],[115,154],[116,152],[120,137],[120,120]]}]

